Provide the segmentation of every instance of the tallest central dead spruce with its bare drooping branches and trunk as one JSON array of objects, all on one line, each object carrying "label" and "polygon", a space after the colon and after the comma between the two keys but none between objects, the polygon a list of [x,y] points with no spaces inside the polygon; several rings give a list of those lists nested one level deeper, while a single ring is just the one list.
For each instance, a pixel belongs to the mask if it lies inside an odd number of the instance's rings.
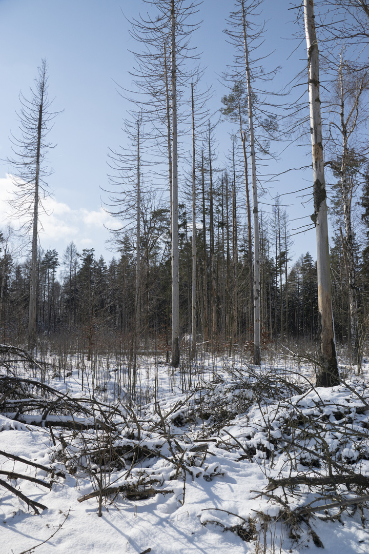
[{"label": "tallest central dead spruce with its bare drooping branches and trunk", "polygon": [[196,60],[189,47],[190,35],[198,24],[189,21],[197,13],[197,4],[190,0],[145,0],[155,10],[132,22],[134,39],[143,51],[135,53],[137,68],[133,75],[140,99],[136,101],[148,113],[157,131],[160,152],[167,144],[171,221],[172,280],[172,365],[180,362],[179,322],[179,242],[178,242],[178,125],[181,123],[183,90],[193,80],[196,68],[188,69],[188,60]]}]

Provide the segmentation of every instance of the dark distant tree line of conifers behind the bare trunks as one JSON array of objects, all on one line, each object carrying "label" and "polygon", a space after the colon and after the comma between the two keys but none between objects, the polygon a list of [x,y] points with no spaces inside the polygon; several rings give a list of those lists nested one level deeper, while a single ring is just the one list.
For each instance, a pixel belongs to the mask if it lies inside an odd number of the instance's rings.
[{"label": "dark distant tree line of conifers behind the bare trunks", "polygon": [[[205,184],[206,177],[204,171]],[[234,205],[233,187],[227,172],[217,179],[212,191],[212,228],[209,224],[209,188],[204,187],[202,216],[205,225],[198,225],[196,233],[196,340],[198,343],[205,342],[210,350],[242,345],[250,346],[252,351],[253,311],[248,274],[247,223],[242,221]],[[366,184],[361,214],[367,228],[367,244],[363,249],[357,245],[355,250],[361,326],[365,325],[369,300],[368,198]],[[91,356],[96,341],[101,341],[106,333],[116,334],[129,344],[136,329],[139,347],[157,343],[169,356],[170,214],[167,204],[158,199],[151,199],[146,206],[142,206],[141,213],[144,216],[140,242],[139,325],[134,327],[137,275],[136,242],[132,229],[119,235],[119,244],[115,238],[118,253],[108,263],[102,257],[96,259],[93,248],[78,253],[73,242],[61,257],[56,250],[38,252],[39,337],[59,334],[79,337],[84,351]],[[189,228],[186,206],[180,204],[180,330],[183,337],[191,333],[192,237]],[[263,344],[276,340],[316,340],[319,333],[316,262],[307,252],[291,264],[292,240],[289,237],[288,216],[277,198],[272,212],[265,217],[262,214],[260,225]],[[1,340],[13,343],[27,341],[30,259],[19,261],[13,258],[4,234],[1,234],[0,240]],[[211,258],[215,260],[214,270]],[[215,287],[212,285],[213,272]],[[336,339],[345,344],[350,336],[349,279],[339,233],[335,234],[331,248],[331,276]]]}]

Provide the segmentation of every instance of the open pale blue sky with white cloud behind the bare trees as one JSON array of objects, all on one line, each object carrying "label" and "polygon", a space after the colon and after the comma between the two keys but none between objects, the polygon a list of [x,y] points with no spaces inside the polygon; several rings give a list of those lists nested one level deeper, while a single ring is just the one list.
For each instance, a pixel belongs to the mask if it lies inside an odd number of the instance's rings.
[{"label": "open pale blue sky with white cloud behind the bare trees", "polygon": [[[194,34],[192,44],[198,47],[201,65],[206,68],[204,83],[212,85],[214,98],[211,110],[220,107],[220,99],[227,91],[220,83],[219,75],[232,61],[233,50],[226,43],[222,30],[225,19],[233,8],[233,2],[205,0],[200,6],[200,29]],[[302,44],[292,58],[289,52],[298,45],[292,39],[298,32],[291,22],[294,13],[289,11],[290,3],[282,0],[264,2],[263,19],[267,22],[267,50],[276,49],[271,64],[281,65],[276,88],[293,78],[303,69],[305,45]],[[53,199],[48,203],[51,216],[43,218],[44,233],[40,234],[44,249],[56,248],[61,254],[70,240],[77,248],[94,247],[96,254],[106,259],[112,257],[107,251],[109,238],[103,227],[108,216],[101,208],[101,187],[107,186],[108,148],[124,144],[121,130],[122,119],[129,109],[127,101],[117,93],[115,81],[129,88],[133,57],[129,49],[137,46],[129,37],[128,19],[145,11],[138,0],[0,0],[0,157],[11,155],[9,135],[17,135],[17,117],[20,90],[27,96],[29,86],[37,76],[41,58],[49,66],[49,95],[54,98],[55,111],[64,110],[56,120],[50,133],[50,140],[57,146],[49,152],[49,166],[54,172],[48,179]],[[205,85],[206,86],[206,85]],[[205,88],[204,86],[204,88]],[[217,138],[220,150],[228,147],[229,128],[220,127]],[[310,163],[309,146],[289,150],[281,158],[278,170],[290,164]],[[220,158],[222,153],[220,152]],[[292,162],[291,162],[292,160]],[[274,166],[275,168],[276,166]],[[7,164],[0,166],[0,216],[5,222],[3,199],[8,196],[9,181]],[[283,182],[276,183],[264,199],[273,203],[277,192],[303,188],[310,175],[287,175]],[[306,209],[300,199],[288,197],[290,217],[306,216]],[[264,209],[268,209],[267,206]],[[311,212],[313,209],[311,209]],[[297,225],[293,224],[291,227]],[[308,238],[307,238],[308,237]],[[314,255],[315,233],[295,237],[294,252]]]}]

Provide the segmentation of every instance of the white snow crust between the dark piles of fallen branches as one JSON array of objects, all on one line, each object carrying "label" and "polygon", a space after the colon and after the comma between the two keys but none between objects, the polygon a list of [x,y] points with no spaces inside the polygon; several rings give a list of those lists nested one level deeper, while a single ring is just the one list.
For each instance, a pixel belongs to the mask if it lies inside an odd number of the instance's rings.
[{"label": "white snow crust between the dark piles of fallen branches", "polygon": [[[325,461],[319,451],[323,443],[334,453],[333,460],[344,460],[348,467],[369,476],[366,432],[369,390],[364,378],[369,364],[363,367],[361,381],[351,379],[349,387],[344,384],[333,389],[305,387],[302,394],[289,395],[287,392],[277,401],[266,395],[263,403],[260,398],[254,401],[252,387],[247,388],[245,383],[250,372],[267,374],[270,368],[266,366],[257,370],[234,359],[225,361],[209,357],[189,393],[183,393],[173,384],[170,373],[173,369],[164,363],[154,367],[154,363],[148,362],[142,371],[142,379],[145,376],[149,388],[155,386],[155,381],[159,383],[156,398],[137,409],[141,437],[132,428],[132,434],[126,433],[125,438],[117,434],[115,447],[121,449],[119,452],[128,452],[127,448],[147,448],[159,455],[143,456],[136,465],[132,464],[128,477],[127,465],[117,465],[107,485],[128,486],[131,483],[133,486],[140,480],[150,481],[150,487],[159,494],[144,500],[129,499],[122,494],[108,496],[102,517],[97,517],[96,497],[83,502],[77,500],[93,491],[91,476],[83,469],[87,461],[79,452],[82,435],[83,440],[87,440],[93,437],[94,431],[77,434],[55,430],[56,438],[63,435],[67,443],[65,449],[60,440],[56,440],[54,446],[48,429],[27,421],[15,422],[14,414],[9,413],[9,417],[3,414],[0,416],[0,449],[66,471],[66,478],[55,477],[51,490],[26,480],[9,481],[30,499],[48,506],[40,515],[34,515],[22,500],[0,489],[1,554],[20,554],[43,541],[46,542],[38,546],[37,554],[139,554],[148,548],[153,554],[315,553],[320,552],[321,547],[314,543],[314,533],[328,554],[369,552],[367,526],[362,526],[360,511],[354,507],[339,519],[328,521],[324,521],[327,519],[324,511],[316,512],[309,520],[313,531],[310,533],[306,528],[305,534],[302,532],[297,538],[290,531],[287,534],[287,527],[279,517],[283,506],[271,497],[276,494],[283,499],[283,490],[279,488],[266,495],[271,479],[315,475],[318,466],[319,474],[325,471]],[[283,367],[274,367],[273,371],[275,375],[278,372],[284,375],[285,363]],[[308,371],[309,368],[306,375]],[[177,382],[180,382],[179,375]],[[306,383],[305,377],[302,382]],[[107,383],[104,401],[116,402],[115,379],[107,378]],[[85,393],[75,371],[65,382],[54,378],[49,385],[70,398],[80,398]],[[170,413],[165,419],[169,422],[169,440],[157,430],[160,425],[158,404],[163,417]],[[27,417],[31,420],[36,416]],[[61,416],[53,416],[54,420],[58,417]],[[89,418],[80,420],[88,422]],[[295,421],[295,425],[287,429],[289,420]],[[306,425],[314,421],[319,425],[324,422],[323,443],[314,436],[307,441],[303,435]],[[116,424],[122,424],[122,419],[117,417]],[[352,443],[346,440],[350,432]],[[300,448],[302,440],[304,448]],[[290,449],[285,448],[288,441]],[[178,473],[178,466],[170,462],[171,449],[187,468],[183,473]],[[49,479],[46,471],[25,467],[1,455],[0,469]],[[170,492],[160,494],[163,490]],[[291,510],[310,502],[319,504],[319,494],[306,486],[299,485],[297,492],[288,498]],[[352,491],[352,496],[356,494]],[[320,500],[320,504],[322,502]],[[329,513],[335,515],[337,511],[332,509]],[[363,514],[368,516],[366,508]],[[263,523],[266,519],[267,527]],[[61,524],[63,527],[59,529]],[[250,532],[249,537],[245,530]]]}]

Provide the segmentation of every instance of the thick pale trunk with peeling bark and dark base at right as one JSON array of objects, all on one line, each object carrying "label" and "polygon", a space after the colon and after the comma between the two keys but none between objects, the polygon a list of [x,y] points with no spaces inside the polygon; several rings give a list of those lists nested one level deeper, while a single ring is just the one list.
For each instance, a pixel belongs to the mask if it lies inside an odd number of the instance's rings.
[{"label": "thick pale trunk with peeling bark and dark base at right", "polygon": [[319,52],[315,34],[313,0],[304,0],[304,16],[306,46],[308,49],[310,133],[314,176],[315,212],[311,218],[316,229],[320,326],[320,368],[316,376],[316,384],[320,387],[331,387],[339,384],[340,381],[332,316],[328,220],[321,136]]}]

